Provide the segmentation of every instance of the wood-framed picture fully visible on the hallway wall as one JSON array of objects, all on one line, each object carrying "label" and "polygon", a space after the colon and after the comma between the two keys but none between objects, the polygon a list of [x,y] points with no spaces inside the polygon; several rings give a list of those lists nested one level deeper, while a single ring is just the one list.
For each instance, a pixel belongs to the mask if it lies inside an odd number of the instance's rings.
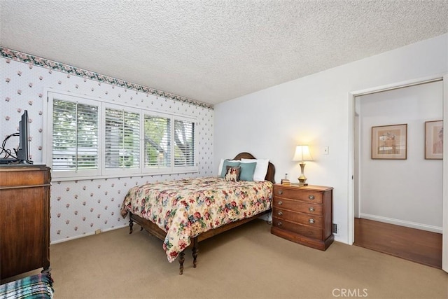
[{"label": "wood-framed picture fully visible on the hallway wall", "polygon": [[372,127],[372,159],[407,158],[407,124]]}]

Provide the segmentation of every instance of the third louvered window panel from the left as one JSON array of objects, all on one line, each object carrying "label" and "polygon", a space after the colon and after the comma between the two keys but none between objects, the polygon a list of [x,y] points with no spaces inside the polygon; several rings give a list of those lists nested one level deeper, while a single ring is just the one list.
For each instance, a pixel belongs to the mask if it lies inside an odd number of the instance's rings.
[{"label": "third louvered window panel from the left", "polygon": [[171,165],[170,119],[145,115],[145,167],[165,168]]}]

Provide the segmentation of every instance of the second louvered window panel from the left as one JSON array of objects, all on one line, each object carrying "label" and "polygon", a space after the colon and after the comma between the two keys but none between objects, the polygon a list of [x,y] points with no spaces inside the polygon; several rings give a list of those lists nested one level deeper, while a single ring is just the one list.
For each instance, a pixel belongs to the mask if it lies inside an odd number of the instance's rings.
[{"label": "second louvered window panel from the left", "polygon": [[106,168],[140,167],[140,115],[125,109],[105,110]]}]

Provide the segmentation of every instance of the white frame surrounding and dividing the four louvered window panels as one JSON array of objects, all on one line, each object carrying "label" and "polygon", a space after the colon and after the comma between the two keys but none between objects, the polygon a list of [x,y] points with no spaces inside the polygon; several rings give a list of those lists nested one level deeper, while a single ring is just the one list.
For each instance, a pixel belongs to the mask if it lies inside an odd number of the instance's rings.
[{"label": "white frame surrounding and dividing the four louvered window panels", "polygon": [[[97,169],[80,169],[78,171],[60,171],[57,169],[52,169],[52,177],[58,180],[71,180],[71,179],[101,179],[109,177],[125,177],[125,176],[135,176],[135,175],[154,175],[154,174],[181,174],[181,173],[194,173],[199,172],[199,165],[197,162],[197,151],[198,151],[198,140],[197,140],[197,118],[192,116],[180,115],[176,113],[161,112],[153,109],[148,109],[141,106],[132,106],[130,104],[118,104],[117,102],[112,102],[107,99],[100,99],[95,97],[89,97],[86,95],[77,95],[72,92],[62,92],[59,90],[46,89],[45,94],[47,96],[47,111],[44,115],[44,123],[46,123],[47,134],[45,143],[46,146],[43,147],[43,162],[52,168],[52,134],[53,134],[53,124],[52,124],[52,113],[53,113],[53,100],[61,99],[67,102],[78,102],[80,104],[95,105],[98,106],[98,168]],[[106,168],[105,167],[105,139],[106,139],[106,108],[111,109],[124,109],[125,111],[137,112],[140,118],[140,136],[139,136],[139,167],[127,168],[127,167],[116,167],[116,168]],[[145,157],[144,157],[144,116],[154,116],[161,118],[169,118],[170,125],[170,136],[169,136],[169,149],[170,153],[170,165],[169,167],[146,167]],[[182,166],[176,167],[174,165],[174,123],[176,120],[191,122],[194,125],[193,132],[193,166]],[[44,136],[45,138],[45,136]]]}]

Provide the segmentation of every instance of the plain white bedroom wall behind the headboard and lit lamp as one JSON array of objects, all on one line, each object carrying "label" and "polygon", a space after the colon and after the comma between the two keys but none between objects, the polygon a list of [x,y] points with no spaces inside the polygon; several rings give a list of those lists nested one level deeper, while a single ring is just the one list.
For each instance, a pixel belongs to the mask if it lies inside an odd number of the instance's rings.
[{"label": "plain white bedroom wall behind the headboard and lit lamp", "polygon": [[[349,49],[348,49],[349,50]],[[296,144],[307,143],[308,182],[332,186],[337,241],[349,241],[349,92],[448,72],[448,34],[368,57],[215,106],[214,168],[240,151],[269,158],[276,181],[300,174],[291,161]],[[329,146],[329,155],[322,155]]]}]

